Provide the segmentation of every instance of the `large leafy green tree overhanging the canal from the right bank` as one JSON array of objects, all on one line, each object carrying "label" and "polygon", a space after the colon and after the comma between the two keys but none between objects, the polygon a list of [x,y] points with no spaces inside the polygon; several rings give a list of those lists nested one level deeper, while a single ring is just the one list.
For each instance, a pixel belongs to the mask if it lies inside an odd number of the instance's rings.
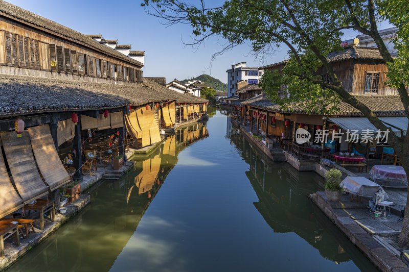
[{"label": "large leafy green tree overhanging the canal from the right bank", "polygon": [[[388,83],[397,88],[406,116],[409,116],[409,95],[405,89],[409,75],[409,10],[401,0],[230,0],[220,7],[210,7],[203,0],[197,6],[182,0],[144,0],[147,11],[165,23],[189,23],[194,42],[198,45],[213,35],[228,40],[223,50],[249,41],[256,54],[270,54],[285,44],[289,61],[281,73],[266,72],[262,87],[272,102],[283,108],[301,103],[310,111],[328,113],[339,102],[352,105],[379,130],[388,128],[366,105],[347,92],[335,75],[326,56],[340,51],[343,31],[354,29],[371,36],[389,72]],[[389,20],[399,28],[395,40],[398,59],[393,59],[383,43],[377,22]],[[331,83],[316,75],[324,67]],[[280,88],[287,87],[288,97],[279,97]],[[325,97],[325,99],[323,99]],[[328,110],[327,105],[332,105]],[[391,129],[390,129],[391,131]],[[409,135],[389,134],[389,143],[409,173]],[[405,147],[406,146],[406,147]],[[409,194],[408,194],[409,196]],[[409,199],[406,201],[409,210]],[[403,219],[399,236],[402,245],[409,245],[409,212]]]}]

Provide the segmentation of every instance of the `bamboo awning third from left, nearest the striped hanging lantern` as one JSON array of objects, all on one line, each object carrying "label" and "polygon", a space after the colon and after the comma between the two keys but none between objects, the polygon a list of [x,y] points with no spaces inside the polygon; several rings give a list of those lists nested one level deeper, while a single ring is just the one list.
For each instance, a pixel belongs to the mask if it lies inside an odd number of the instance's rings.
[{"label": "bamboo awning third from left, nearest the striped hanging lantern", "polygon": [[49,186],[50,191],[58,189],[71,181],[70,176],[61,163],[55,149],[50,126],[41,125],[28,128],[31,147],[40,173]]}]

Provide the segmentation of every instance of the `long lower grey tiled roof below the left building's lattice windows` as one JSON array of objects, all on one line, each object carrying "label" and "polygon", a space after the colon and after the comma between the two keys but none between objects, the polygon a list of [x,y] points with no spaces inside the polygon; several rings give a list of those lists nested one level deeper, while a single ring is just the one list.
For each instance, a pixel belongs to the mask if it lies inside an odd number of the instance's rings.
[{"label": "long lower grey tiled roof below the left building's lattice windows", "polygon": [[0,89],[0,116],[140,106],[152,102],[208,102],[149,80],[138,86],[0,75]]}]

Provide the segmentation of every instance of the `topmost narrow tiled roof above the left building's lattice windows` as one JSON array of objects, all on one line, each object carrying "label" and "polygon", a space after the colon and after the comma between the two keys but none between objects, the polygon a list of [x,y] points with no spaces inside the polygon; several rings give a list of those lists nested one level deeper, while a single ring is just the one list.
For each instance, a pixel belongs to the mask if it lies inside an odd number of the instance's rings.
[{"label": "topmost narrow tiled roof above the left building's lattice windows", "polygon": [[96,40],[90,39],[89,36],[84,35],[82,33],[79,33],[73,29],[67,28],[65,26],[62,26],[62,24],[56,23],[52,20],[49,20],[47,18],[41,17],[37,14],[34,14],[30,11],[24,10],[22,8],[19,8],[17,6],[14,6],[10,3],[4,2],[3,0],[0,0],[0,11],[4,12],[18,20],[24,21],[28,23],[29,25],[32,24],[35,27],[43,28],[48,31],[51,31],[53,33],[57,33],[59,35],[62,35],[66,38],[73,39],[75,41],[78,41],[82,44],[85,44],[86,46],[89,46],[90,48],[93,48],[94,50],[97,50],[99,52],[102,52],[104,54],[114,56],[118,59],[121,59],[123,61],[132,63],[134,65],[138,66],[143,66],[143,64],[139,61],[133,60],[122,53],[112,49],[109,46],[105,46],[101,43],[99,43]]}]

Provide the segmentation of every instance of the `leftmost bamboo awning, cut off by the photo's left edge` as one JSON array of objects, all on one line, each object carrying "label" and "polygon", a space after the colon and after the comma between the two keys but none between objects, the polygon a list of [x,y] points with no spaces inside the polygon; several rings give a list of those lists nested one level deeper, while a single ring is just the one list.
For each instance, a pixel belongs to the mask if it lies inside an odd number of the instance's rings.
[{"label": "leftmost bamboo awning, cut off by the photo's left edge", "polygon": [[0,154],[0,188],[0,218],[2,218],[24,206],[21,197],[10,181],[2,154]]}]

